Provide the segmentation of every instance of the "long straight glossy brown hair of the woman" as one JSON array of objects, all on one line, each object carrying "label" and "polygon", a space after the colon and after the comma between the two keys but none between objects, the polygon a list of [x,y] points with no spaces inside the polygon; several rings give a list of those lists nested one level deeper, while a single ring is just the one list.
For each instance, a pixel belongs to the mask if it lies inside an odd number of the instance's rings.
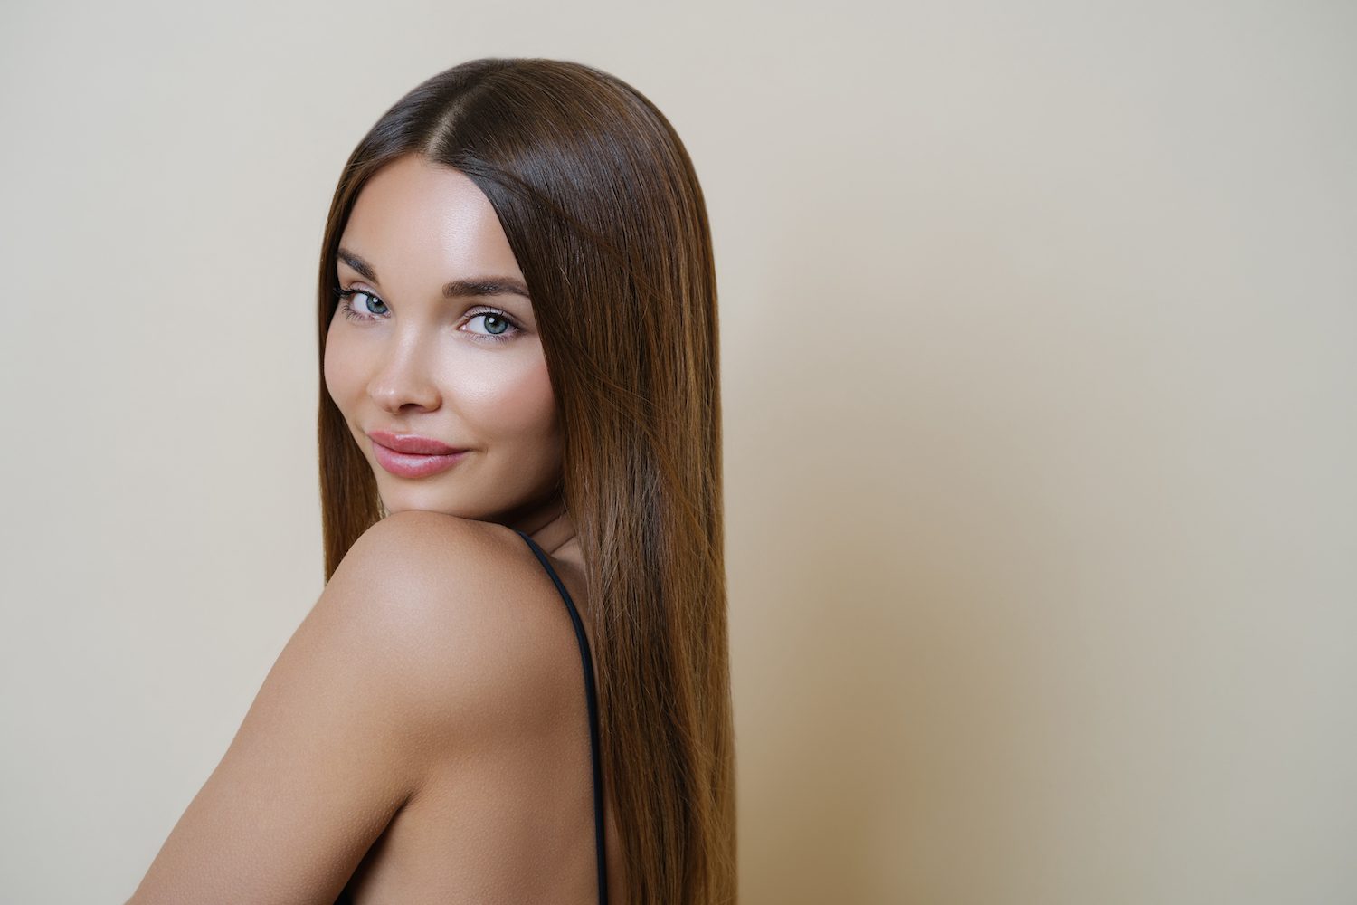
[{"label": "long straight glossy brown hair of the woman", "polygon": [[[624,81],[556,60],[474,60],[398,100],[345,166],[320,255],[406,153],[484,191],[532,296],[563,425],[562,488],[588,570],[600,742],[630,905],[734,902],[716,280],[692,161]],[[320,380],[326,579],[381,517]]]}]

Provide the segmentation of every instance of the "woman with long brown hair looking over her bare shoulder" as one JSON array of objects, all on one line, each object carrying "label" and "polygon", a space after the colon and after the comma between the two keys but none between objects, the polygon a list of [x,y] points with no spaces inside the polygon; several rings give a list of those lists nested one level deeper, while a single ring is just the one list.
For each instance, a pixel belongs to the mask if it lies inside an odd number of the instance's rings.
[{"label": "woman with long brown hair looking over her bare shoulder", "polygon": [[133,902],[735,901],[715,304],[613,76],[377,121],[320,256],[326,589]]}]

